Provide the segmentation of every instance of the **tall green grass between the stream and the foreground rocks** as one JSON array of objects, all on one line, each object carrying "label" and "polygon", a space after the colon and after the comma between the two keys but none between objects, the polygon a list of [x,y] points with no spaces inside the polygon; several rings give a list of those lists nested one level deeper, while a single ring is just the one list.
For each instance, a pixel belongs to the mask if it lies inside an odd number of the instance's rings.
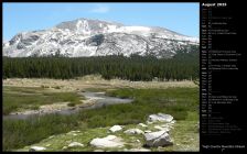
[{"label": "tall green grass between the stream and the foreground rocks", "polygon": [[[193,135],[198,134],[195,131],[196,129],[193,128],[194,123],[198,122],[198,88],[117,89],[107,91],[107,95],[132,98],[135,101],[132,103],[84,110],[73,116],[45,116],[26,121],[4,120],[3,150],[19,148],[37,143],[52,134],[60,134],[75,129],[89,131],[115,124],[137,124],[146,122],[149,114],[158,112],[173,116],[178,123],[182,125],[173,132],[176,135],[178,143],[187,140],[189,136],[182,138],[183,133],[194,132]],[[197,144],[194,145],[194,142],[198,141],[194,140],[191,143],[193,144],[192,147],[197,146]],[[88,150],[90,148],[88,147]],[[171,147],[170,151],[172,150]]]}]

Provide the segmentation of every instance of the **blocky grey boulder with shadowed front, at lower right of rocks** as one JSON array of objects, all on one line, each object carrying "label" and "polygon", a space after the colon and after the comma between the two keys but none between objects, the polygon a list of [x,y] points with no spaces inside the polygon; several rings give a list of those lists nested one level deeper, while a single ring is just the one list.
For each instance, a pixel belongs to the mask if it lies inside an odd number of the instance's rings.
[{"label": "blocky grey boulder with shadowed front, at lower right of rocks", "polygon": [[148,147],[158,147],[172,145],[172,141],[165,131],[151,132],[144,134],[146,144]]}]

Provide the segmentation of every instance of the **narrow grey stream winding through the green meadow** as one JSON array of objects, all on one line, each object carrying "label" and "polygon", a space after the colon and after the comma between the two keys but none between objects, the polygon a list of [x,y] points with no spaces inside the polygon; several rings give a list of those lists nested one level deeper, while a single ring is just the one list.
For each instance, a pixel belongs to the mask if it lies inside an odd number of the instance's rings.
[{"label": "narrow grey stream winding through the green meadow", "polygon": [[88,110],[88,109],[96,109],[101,108],[104,106],[109,105],[118,105],[118,103],[130,103],[133,100],[129,98],[117,98],[117,97],[109,97],[106,96],[105,92],[92,92],[92,91],[85,91],[80,92],[86,100],[93,99],[95,103],[90,106],[78,106],[73,109],[64,109],[64,110],[55,110],[52,112],[40,112],[40,113],[32,113],[32,114],[9,114],[3,116],[3,119],[26,119],[33,116],[43,116],[43,114],[50,114],[50,113],[60,113],[60,114],[73,114],[82,110]]}]

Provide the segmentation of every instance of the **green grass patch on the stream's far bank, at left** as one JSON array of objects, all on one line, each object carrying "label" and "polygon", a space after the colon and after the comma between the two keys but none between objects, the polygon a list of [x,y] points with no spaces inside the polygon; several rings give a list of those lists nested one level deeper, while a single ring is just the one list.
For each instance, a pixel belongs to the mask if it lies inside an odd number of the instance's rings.
[{"label": "green grass patch on the stream's far bank, at left", "polygon": [[80,103],[84,97],[75,92],[51,92],[42,87],[3,87],[3,114],[12,111],[39,109],[42,105],[68,101]]}]

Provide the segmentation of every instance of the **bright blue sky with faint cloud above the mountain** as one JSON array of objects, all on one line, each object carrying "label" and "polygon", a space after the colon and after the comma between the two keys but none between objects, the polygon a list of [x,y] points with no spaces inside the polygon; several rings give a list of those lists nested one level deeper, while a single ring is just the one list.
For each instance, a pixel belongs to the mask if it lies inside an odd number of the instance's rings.
[{"label": "bright blue sky with faint cloud above the mountain", "polygon": [[3,3],[3,40],[79,18],[161,26],[198,36],[198,3]]}]

